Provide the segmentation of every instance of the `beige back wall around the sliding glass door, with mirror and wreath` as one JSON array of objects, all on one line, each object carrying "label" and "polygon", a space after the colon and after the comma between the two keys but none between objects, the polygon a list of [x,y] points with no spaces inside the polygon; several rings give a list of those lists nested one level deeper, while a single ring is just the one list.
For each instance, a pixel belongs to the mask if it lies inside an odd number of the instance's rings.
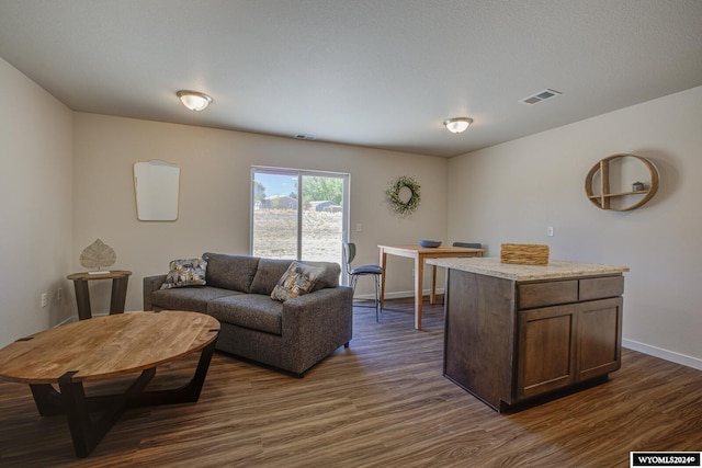
[{"label": "beige back wall around the sliding glass door, with mirror and wreath", "polygon": [[[378,243],[445,238],[446,159],[84,113],[75,115],[75,135],[73,269],[97,238],[113,247],[113,267],[134,272],[131,310],[143,307],[141,278],[166,273],[172,259],[249,252],[251,165],[350,173],[354,264],[377,263]],[[133,164],[149,159],[181,167],[176,222],[136,219]],[[420,183],[422,201],[415,216],[400,219],[388,210],[384,192],[404,174]],[[389,269],[389,294],[410,292],[411,261],[392,259]],[[359,283],[359,295],[370,292],[370,282]],[[109,293],[109,282],[91,284],[94,312],[106,311]]]}]

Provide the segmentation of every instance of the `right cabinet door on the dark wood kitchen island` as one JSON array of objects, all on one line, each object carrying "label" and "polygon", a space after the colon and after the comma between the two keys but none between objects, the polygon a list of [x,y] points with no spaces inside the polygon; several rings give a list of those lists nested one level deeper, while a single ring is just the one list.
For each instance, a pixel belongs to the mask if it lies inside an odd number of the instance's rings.
[{"label": "right cabinet door on the dark wood kitchen island", "polygon": [[620,368],[622,304],[621,297],[578,304],[578,380]]}]

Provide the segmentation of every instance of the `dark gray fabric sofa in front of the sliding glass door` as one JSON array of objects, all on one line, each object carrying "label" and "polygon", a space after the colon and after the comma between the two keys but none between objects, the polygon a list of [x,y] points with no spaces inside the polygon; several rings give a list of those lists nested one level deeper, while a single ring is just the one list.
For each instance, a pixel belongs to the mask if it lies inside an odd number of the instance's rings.
[{"label": "dark gray fabric sofa in front of the sliding glass door", "polygon": [[216,349],[302,376],[352,338],[353,290],[339,286],[337,263],[322,267],[310,293],[284,303],[271,292],[291,260],[205,253],[205,286],[160,289],[167,275],[144,278],[144,310],[192,310],[220,322]]}]

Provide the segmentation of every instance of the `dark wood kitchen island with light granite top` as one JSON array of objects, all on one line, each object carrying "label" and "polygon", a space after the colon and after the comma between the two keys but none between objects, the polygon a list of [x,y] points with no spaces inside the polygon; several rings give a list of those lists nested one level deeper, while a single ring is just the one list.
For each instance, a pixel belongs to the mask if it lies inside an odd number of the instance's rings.
[{"label": "dark wood kitchen island with light granite top", "polygon": [[443,374],[492,409],[519,409],[620,368],[629,267],[498,258],[428,263],[448,269]]}]

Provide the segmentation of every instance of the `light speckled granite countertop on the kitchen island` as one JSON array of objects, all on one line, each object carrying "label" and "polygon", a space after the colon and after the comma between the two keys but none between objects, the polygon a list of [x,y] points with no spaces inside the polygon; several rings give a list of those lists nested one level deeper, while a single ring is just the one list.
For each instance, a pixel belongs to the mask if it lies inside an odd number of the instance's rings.
[{"label": "light speckled granite countertop on the kitchen island", "polygon": [[551,260],[547,265],[516,265],[501,263],[497,256],[427,259],[427,263],[513,281],[600,276],[629,272],[629,266],[602,265],[599,263],[582,263],[567,260]]}]

